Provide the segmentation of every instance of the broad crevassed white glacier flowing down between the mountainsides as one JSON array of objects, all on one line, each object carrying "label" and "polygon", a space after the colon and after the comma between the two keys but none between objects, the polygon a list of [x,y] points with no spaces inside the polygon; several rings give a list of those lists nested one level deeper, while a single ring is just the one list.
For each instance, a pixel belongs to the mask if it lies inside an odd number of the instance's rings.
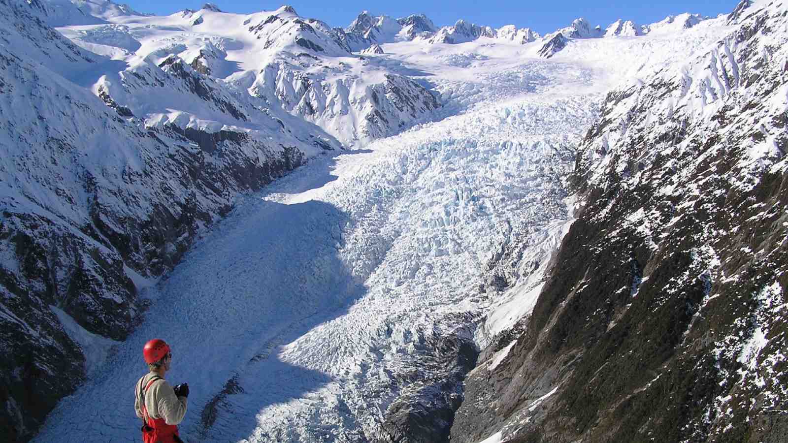
[{"label": "broad crevassed white glacier flowing down between the mountainsides", "polygon": [[[168,378],[191,386],[189,441],[381,434],[389,407],[420,382],[420,358],[447,337],[483,344],[513,326],[505,311],[533,303],[544,266],[520,270],[504,294],[485,270],[506,244],[548,261],[570,216],[562,172],[604,91],[686,57],[721,28],[577,40],[550,61],[537,44],[384,45],[391,55],[370,62],[426,73],[445,118],[324,154],[237,205],[143,292],[144,322],[35,441],[138,438],[131,386],[151,337],[173,346]],[[643,47],[664,52],[646,58]]]}]

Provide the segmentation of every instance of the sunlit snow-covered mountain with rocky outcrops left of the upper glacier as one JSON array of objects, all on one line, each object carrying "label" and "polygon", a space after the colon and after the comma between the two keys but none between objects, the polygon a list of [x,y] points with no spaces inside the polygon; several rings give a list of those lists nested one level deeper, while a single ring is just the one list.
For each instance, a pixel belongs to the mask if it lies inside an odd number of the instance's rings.
[{"label": "sunlit snow-covered mountain with rocky outcrops left of the upper glacier", "polygon": [[[318,143],[333,147],[391,135],[428,118],[439,106],[418,83],[367,66],[328,25],[303,19],[288,6],[248,16],[210,7],[169,17],[132,15],[113,24],[61,31],[87,50],[125,61],[125,70],[108,72],[106,82],[95,87],[132,114],[145,116],[148,126],[183,128],[195,118],[214,118],[171,113],[169,109],[183,108],[173,102],[184,99],[156,91],[169,90],[167,82],[155,78],[162,70],[166,74],[175,70],[184,82],[194,84],[188,86],[190,95],[204,95],[201,84],[206,82],[228,91],[232,99],[208,100],[223,114],[223,109],[236,108],[238,112],[229,113],[237,120],[233,124],[254,123],[258,114],[284,121],[289,114],[329,132]],[[186,78],[191,76],[190,68],[204,78]],[[362,72],[365,75],[359,76]],[[403,101],[405,95],[412,99]],[[160,99],[139,99],[151,96]],[[255,110],[243,111],[243,107]]]}]

